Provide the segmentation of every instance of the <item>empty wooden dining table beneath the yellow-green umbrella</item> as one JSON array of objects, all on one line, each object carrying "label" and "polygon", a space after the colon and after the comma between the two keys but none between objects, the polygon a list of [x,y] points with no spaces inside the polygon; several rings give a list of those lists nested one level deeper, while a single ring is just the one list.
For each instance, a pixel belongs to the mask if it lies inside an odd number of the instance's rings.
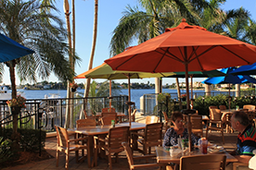
[{"label": "empty wooden dining table beneath the yellow-green umbrella", "polygon": [[[129,122],[120,123],[120,124],[115,125],[115,127],[126,127],[126,126],[130,127]],[[76,134],[83,134],[83,135],[88,136],[89,140],[87,142],[87,145],[88,145],[87,156],[89,156],[90,158],[93,158],[94,157],[93,149],[95,148],[94,136],[108,134],[110,128],[112,128],[112,127],[111,126],[96,126],[96,127],[84,127],[84,128],[69,128],[68,130],[70,132],[74,132]],[[146,124],[132,122],[130,131],[137,131],[137,130],[141,130],[141,129],[145,129],[145,128],[146,128]],[[134,147],[137,147],[137,145],[134,145]],[[135,150],[135,148],[134,148],[134,150]],[[93,160],[95,160],[95,159],[93,159]],[[88,166],[93,167],[94,162],[88,163]]]}]

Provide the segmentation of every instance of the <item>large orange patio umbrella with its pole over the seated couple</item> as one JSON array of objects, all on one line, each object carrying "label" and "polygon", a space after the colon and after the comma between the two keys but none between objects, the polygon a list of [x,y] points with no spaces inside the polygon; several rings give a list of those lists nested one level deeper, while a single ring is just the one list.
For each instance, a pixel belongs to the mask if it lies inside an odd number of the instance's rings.
[{"label": "large orange patio umbrella with its pole over the seated couple", "polygon": [[[256,46],[188,25],[183,18],[177,27],[166,29],[159,36],[105,62],[113,70],[151,73],[185,71],[186,101],[189,101],[188,71],[208,71],[253,64],[256,62]],[[188,102],[186,108],[188,113]],[[191,129],[188,128],[188,132],[191,151]]]}]

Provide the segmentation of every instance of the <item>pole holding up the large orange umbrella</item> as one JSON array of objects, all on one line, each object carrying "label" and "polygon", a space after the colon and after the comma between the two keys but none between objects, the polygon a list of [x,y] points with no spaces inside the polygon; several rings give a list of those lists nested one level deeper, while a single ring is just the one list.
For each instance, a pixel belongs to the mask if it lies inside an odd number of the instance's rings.
[{"label": "pole holding up the large orange umbrella", "polygon": [[[186,74],[186,109],[190,110],[190,107],[189,107],[189,88],[188,88],[188,64],[187,63],[185,63],[185,74]],[[191,122],[190,122],[190,115],[189,114],[187,115],[187,119],[188,119],[188,121],[187,121],[188,150],[189,150],[189,152],[192,152]]]}]

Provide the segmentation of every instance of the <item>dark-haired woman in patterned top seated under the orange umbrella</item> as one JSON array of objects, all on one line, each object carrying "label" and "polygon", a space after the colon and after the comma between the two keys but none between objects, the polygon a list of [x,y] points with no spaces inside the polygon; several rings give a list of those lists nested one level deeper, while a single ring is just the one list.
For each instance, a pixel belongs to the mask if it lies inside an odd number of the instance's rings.
[{"label": "dark-haired woman in patterned top seated under the orange umbrella", "polygon": [[[174,146],[178,144],[179,136],[183,139],[188,139],[187,128],[184,128],[183,115],[181,113],[173,113],[171,118],[174,127],[168,128],[163,139],[162,146]],[[198,138],[191,133],[192,146],[198,143]]]}]

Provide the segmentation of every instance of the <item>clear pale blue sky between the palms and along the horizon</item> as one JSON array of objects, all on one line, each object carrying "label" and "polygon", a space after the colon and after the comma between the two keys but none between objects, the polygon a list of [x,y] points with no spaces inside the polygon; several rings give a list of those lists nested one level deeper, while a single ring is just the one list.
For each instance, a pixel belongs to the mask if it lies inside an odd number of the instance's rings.
[{"label": "clear pale blue sky between the palms and along the horizon", "polygon": [[[71,0],[70,8],[71,8]],[[94,0],[75,0],[76,5],[76,53],[81,57],[82,62],[75,66],[76,74],[81,74],[88,70],[88,62],[91,54],[92,38],[93,38],[93,26],[94,26]],[[112,37],[112,31],[117,27],[120,18],[122,18],[122,12],[125,10],[125,6],[138,6],[137,0],[98,0],[98,28],[97,28],[97,40],[96,40],[96,53],[94,58],[93,67],[101,65],[104,60],[109,58],[109,42]],[[66,22],[63,0],[56,0],[56,6],[59,10],[58,15],[63,21]],[[255,0],[226,0],[222,8],[224,10],[237,9],[243,6],[250,11],[251,17],[256,20],[256,1]],[[70,15],[71,16],[71,15]],[[70,17],[71,21],[71,17]],[[55,76],[51,76],[47,81],[58,81]],[[102,82],[106,79],[96,79],[97,82]],[[194,82],[201,81],[203,79],[193,79]],[[42,79],[38,79],[42,81]],[[76,82],[85,82],[85,79],[76,79]],[[127,82],[127,79],[115,80],[117,82]],[[144,82],[155,83],[154,79],[131,79],[131,82]],[[185,79],[180,79],[185,81]],[[162,84],[172,84],[175,79],[164,78]],[[3,83],[10,84],[8,69],[5,68]],[[22,82],[25,84],[27,82]],[[32,83],[32,82],[29,82]],[[20,84],[17,75],[16,84]]]}]

